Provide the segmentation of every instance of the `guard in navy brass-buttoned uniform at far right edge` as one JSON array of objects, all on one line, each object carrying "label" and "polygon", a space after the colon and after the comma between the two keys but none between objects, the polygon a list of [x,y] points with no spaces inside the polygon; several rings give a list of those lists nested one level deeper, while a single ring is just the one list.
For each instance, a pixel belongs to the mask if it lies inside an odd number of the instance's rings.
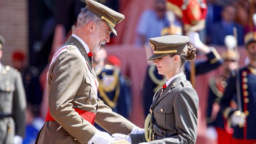
[{"label": "guard in navy brass-buttoned uniform at far right edge", "polygon": [[[245,49],[249,64],[230,77],[221,100],[223,116],[234,127],[234,144],[256,143],[256,36],[255,31],[246,34]],[[237,108],[230,106],[235,100]]]}]

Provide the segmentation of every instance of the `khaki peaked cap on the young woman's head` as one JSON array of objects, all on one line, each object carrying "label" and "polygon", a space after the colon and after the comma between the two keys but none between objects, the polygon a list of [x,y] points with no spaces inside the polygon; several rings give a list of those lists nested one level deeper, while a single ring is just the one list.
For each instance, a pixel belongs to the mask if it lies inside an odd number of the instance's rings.
[{"label": "khaki peaked cap on the young woman's head", "polygon": [[161,37],[149,38],[149,44],[154,54],[148,60],[158,59],[170,53],[177,53],[187,47],[188,36],[167,35]]}]

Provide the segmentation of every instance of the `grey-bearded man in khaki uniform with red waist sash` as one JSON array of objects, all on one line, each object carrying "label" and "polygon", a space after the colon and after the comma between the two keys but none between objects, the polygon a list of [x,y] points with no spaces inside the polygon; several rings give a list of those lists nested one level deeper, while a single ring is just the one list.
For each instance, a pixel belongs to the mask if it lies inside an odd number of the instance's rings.
[{"label": "grey-bearded man in khaki uniform with red waist sash", "polygon": [[[47,73],[49,110],[36,143],[113,143],[109,133],[133,133],[139,127],[114,113],[98,97],[98,80],[90,58],[117,35],[124,15],[93,0],[77,18],[77,27],[55,52]],[[107,132],[98,130],[97,123]],[[137,132],[135,132],[137,133]]]}]

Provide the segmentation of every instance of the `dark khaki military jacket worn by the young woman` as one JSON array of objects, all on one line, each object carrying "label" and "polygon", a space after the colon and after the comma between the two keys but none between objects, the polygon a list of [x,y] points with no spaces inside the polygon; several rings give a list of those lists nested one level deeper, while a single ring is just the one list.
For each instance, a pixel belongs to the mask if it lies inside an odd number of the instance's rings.
[{"label": "dark khaki military jacket worn by the young woman", "polygon": [[[198,96],[185,75],[175,78],[163,92],[162,88],[158,90],[152,107],[154,124],[166,135],[156,136],[150,144],[196,142]],[[144,134],[130,136],[132,143],[146,141]]]}]

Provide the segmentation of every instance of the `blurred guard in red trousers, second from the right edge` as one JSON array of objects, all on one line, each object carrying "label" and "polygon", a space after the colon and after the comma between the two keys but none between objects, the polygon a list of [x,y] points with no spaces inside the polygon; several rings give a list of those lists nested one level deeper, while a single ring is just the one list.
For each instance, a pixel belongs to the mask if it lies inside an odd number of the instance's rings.
[{"label": "blurred guard in red trousers, second from the right edge", "polygon": [[[227,86],[227,79],[234,75],[238,67],[238,53],[229,49],[222,53],[223,63],[218,76],[211,77],[209,81],[209,94],[207,103],[207,133],[210,138],[218,139],[218,144],[231,144],[233,129],[224,121],[220,100]],[[216,135],[217,134],[217,135]]]}]

